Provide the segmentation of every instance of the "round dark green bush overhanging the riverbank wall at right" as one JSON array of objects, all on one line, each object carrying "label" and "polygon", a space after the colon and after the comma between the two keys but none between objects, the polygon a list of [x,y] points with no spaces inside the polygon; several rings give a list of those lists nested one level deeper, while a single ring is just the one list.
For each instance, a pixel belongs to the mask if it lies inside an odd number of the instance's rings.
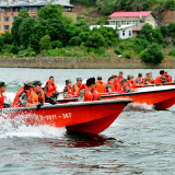
[{"label": "round dark green bush overhanging the riverbank wall at right", "polygon": [[140,58],[145,62],[161,63],[163,60],[163,54],[160,49],[160,46],[156,43],[153,43],[140,54]]}]

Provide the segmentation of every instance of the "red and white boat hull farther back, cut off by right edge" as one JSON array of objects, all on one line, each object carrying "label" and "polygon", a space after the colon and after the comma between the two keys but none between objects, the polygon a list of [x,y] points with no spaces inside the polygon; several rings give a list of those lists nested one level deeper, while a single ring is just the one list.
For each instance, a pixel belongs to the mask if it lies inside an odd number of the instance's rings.
[{"label": "red and white boat hull farther back, cut off by right edge", "polygon": [[137,88],[137,92],[102,95],[103,100],[132,98],[132,103],[166,109],[175,104],[175,85]]}]

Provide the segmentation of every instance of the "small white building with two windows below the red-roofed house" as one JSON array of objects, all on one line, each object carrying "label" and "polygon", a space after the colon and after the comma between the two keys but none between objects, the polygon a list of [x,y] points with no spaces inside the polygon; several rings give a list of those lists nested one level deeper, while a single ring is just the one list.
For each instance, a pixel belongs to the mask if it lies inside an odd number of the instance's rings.
[{"label": "small white building with two windows below the red-roofed house", "polygon": [[[103,25],[106,27],[113,27],[114,30],[116,30],[116,33],[118,33],[119,38],[120,39],[127,39],[132,37],[132,24],[131,25],[121,25],[121,26],[117,26],[117,25]],[[93,28],[100,28],[101,25],[91,25],[90,30]]]}]

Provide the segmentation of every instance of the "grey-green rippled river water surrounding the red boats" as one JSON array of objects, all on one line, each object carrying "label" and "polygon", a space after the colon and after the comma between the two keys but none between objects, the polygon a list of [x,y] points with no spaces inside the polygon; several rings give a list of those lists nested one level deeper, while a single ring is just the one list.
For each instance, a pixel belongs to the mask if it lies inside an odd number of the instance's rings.
[{"label": "grey-green rippled river water surrounding the red boats", "polygon": [[[124,77],[158,69],[124,69]],[[175,70],[167,70],[171,75]],[[65,80],[102,75],[104,81],[117,69],[23,69],[0,68],[0,81],[7,83],[8,102],[25,81],[50,75],[59,91]],[[61,96],[60,96],[61,97]],[[175,106],[155,110],[153,106],[127,106],[114,124],[98,136],[67,135],[66,128],[13,126],[0,118],[1,175],[173,175],[175,174]]]}]

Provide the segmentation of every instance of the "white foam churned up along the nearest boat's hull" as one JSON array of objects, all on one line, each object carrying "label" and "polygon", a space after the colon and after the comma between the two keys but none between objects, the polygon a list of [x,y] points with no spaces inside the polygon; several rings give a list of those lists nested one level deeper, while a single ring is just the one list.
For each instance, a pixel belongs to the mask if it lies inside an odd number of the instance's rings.
[{"label": "white foam churned up along the nearest boat's hull", "polygon": [[23,122],[0,117],[0,139],[19,138],[60,138],[66,133],[66,128],[50,126],[26,126]]}]

